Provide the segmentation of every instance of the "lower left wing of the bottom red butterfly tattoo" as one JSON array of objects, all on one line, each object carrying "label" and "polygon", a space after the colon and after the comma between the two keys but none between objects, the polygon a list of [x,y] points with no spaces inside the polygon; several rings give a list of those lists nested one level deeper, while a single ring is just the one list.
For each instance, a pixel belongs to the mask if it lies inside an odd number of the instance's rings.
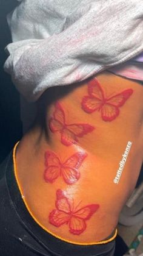
[{"label": "lower left wing of the bottom red butterfly tattoo", "polygon": [[65,212],[53,210],[49,215],[49,222],[53,226],[60,227],[62,224],[67,224],[70,219],[70,215]]}]

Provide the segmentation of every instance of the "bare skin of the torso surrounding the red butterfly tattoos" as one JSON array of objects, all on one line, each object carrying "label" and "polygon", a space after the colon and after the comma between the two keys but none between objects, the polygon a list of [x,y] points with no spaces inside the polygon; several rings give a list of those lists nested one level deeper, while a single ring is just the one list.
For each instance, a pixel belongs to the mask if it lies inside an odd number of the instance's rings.
[{"label": "bare skin of the torso surrounding the red butterfly tattoos", "polygon": [[[52,89],[42,97],[42,103],[39,104],[41,117],[38,116],[35,126],[24,135],[16,151],[19,184],[33,216],[45,229],[75,243],[105,240],[115,230],[119,213],[135,188],[143,158],[142,85],[107,72],[96,78],[107,96],[127,89],[133,90],[130,98],[119,108],[119,115],[115,119],[104,121],[101,111],[86,113],[83,110],[81,102],[88,95],[87,83],[68,89]],[[61,142],[60,132],[53,132],[49,127],[57,101],[64,110],[67,124],[84,123],[94,127],[70,146]],[[131,149],[119,183],[116,184],[113,180],[128,141],[132,142]],[[52,182],[46,181],[46,151],[54,152],[63,162],[79,151],[84,152],[87,157],[82,159],[78,169],[80,177],[72,184],[62,176]],[[99,205],[80,235],[69,232],[67,224],[57,227],[50,223],[50,213],[56,209],[57,190],[65,191],[69,200],[74,199],[75,205],[82,201],[79,208]]]}]

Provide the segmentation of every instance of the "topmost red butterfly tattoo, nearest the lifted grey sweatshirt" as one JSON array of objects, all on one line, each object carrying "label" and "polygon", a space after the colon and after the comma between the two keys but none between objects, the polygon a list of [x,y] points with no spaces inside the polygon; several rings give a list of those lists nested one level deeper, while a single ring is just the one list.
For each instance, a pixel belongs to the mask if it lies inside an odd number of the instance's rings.
[{"label": "topmost red butterfly tattoo, nearest the lifted grey sweatshirt", "polygon": [[127,89],[107,98],[98,80],[93,79],[88,82],[88,96],[82,99],[82,109],[87,113],[100,110],[104,121],[112,121],[119,115],[119,107],[124,105],[132,93],[132,89]]}]

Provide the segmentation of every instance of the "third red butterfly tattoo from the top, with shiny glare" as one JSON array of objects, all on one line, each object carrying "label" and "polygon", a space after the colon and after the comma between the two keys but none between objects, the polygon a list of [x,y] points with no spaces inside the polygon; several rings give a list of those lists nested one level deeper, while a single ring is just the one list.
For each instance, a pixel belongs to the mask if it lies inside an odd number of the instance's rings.
[{"label": "third red butterfly tattoo from the top, with shiny glare", "polygon": [[87,157],[86,153],[77,152],[63,163],[55,153],[45,152],[45,182],[53,183],[59,176],[62,176],[67,184],[75,183],[80,177],[78,169],[85,157]]}]

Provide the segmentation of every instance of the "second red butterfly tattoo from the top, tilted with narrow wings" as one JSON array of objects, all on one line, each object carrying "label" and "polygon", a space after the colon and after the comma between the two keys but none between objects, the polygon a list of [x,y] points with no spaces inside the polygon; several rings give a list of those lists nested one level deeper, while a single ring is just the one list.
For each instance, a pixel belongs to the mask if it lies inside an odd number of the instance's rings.
[{"label": "second red butterfly tattoo from the top, tilted with narrow wings", "polygon": [[49,120],[49,127],[52,132],[61,133],[61,143],[70,146],[78,142],[78,137],[83,137],[95,128],[89,124],[66,124],[65,113],[59,102],[56,102],[55,112]]}]

